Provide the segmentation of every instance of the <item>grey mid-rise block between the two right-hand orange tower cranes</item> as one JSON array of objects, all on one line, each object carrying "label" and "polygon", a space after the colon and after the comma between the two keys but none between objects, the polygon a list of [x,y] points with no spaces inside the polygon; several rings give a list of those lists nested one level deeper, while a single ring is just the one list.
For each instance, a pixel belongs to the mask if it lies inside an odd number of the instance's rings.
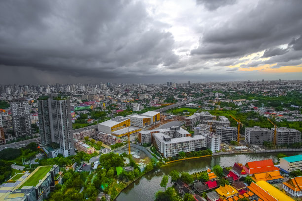
[{"label": "grey mid-rise block between the two right-hand orange tower cranes", "polygon": [[244,141],[251,144],[262,144],[264,141],[271,142],[271,131],[259,126],[246,127]]}]

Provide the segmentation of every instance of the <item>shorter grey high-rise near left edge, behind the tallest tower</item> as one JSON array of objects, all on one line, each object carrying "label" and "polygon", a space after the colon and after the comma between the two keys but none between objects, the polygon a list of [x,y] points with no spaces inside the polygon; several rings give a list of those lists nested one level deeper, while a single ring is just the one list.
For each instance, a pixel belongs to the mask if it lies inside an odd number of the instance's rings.
[{"label": "shorter grey high-rise near left edge, behind the tallest tower", "polygon": [[16,137],[32,136],[30,106],[26,99],[14,99],[10,103]]}]

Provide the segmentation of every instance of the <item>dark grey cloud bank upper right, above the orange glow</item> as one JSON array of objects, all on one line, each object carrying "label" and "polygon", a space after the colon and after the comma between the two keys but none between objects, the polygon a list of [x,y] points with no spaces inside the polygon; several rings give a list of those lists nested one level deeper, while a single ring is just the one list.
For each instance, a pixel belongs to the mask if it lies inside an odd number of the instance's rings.
[{"label": "dark grey cloud bank upper right, above the orange glow", "polygon": [[240,8],[205,29],[191,54],[205,59],[240,57],[286,44],[302,33],[301,9],[300,0],[261,0],[252,8]]}]

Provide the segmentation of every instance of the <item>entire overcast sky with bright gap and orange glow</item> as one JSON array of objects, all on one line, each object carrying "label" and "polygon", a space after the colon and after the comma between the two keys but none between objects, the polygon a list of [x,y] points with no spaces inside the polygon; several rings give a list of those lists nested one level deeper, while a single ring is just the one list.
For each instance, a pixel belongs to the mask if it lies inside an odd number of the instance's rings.
[{"label": "entire overcast sky with bright gap and orange glow", "polygon": [[1,0],[0,84],[302,78],[302,0]]}]

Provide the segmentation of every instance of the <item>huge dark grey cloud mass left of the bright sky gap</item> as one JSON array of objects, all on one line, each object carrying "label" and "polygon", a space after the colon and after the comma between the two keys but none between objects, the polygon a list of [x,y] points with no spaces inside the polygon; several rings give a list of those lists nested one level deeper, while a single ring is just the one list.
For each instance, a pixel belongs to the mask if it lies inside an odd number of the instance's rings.
[{"label": "huge dark grey cloud mass left of the bright sky gap", "polygon": [[1,72],[22,66],[74,77],[152,73],[178,61],[172,34],[162,30],[137,1],[1,1]]}]

